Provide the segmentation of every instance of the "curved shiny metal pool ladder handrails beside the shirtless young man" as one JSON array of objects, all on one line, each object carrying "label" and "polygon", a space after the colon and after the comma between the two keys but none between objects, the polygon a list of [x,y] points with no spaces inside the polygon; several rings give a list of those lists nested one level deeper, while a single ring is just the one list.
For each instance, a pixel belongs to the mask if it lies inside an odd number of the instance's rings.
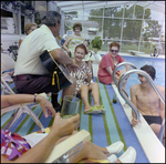
[{"label": "curved shiny metal pool ladder handrails beside the shirtless young man", "polygon": [[[117,69],[121,68],[122,65],[131,65],[134,70],[129,70],[129,71],[125,72],[124,74],[122,74],[122,76],[120,78],[120,80],[117,82],[117,80],[115,78],[115,74],[116,74]],[[139,114],[137,107],[132,103],[132,101],[127,98],[127,95],[124,93],[124,90],[122,89],[123,81],[129,74],[134,74],[134,73],[142,74],[142,75],[144,75],[146,78],[146,80],[152,85],[152,88],[154,89],[154,91],[156,92],[156,94],[159,96],[159,99],[162,100],[162,102],[164,104],[165,104],[165,98],[163,96],[162,92],[158,90],[158,88],[156,86],[156,84],[154,83],[152,78],[145,71],[137,70],[137,68],[133,63],[129,63],[129,62],[123,62],[123,63],[117,64],[115,66],[115,69],[113,70],[113,80],[114,80],[116,86],[118,88],[120,94],[127,102],[127,104],[132,107],[132,110],[134,111],[134,113],[136,115],[136,120],[139,121],[141,114]],[[158,135],[158,140],[160,142],[163,141],[164,131],[165,131],[165,117],[164,117],[164,120],[162,122],[162,127],[160,127],[159,135]]]}]

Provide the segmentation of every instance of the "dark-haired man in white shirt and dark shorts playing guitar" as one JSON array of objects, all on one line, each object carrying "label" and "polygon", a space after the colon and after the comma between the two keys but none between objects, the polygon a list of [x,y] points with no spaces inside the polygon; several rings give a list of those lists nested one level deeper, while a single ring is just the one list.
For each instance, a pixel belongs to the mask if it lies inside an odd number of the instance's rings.
[{"label": "dark-haired man in white shirt and dark shorts playing guitar", "polygon": [[[48,50],[58,63],[68,68],[79,68],[56,43],[55,37],[59,35],[60,29],[61,14],[48,11],[42,18],[42,25],[27,35],[21,43],[14,68],[14,84],[18,92],[29,94],[52,92],[52,104],[55,110],[56,107],[60,110],[56,94],[59,89],[52,85],[52,76],[40,60],[40,54]],[[62,96],[73,95],[75,84],[73,79],[73,83],[63,89]]]}]

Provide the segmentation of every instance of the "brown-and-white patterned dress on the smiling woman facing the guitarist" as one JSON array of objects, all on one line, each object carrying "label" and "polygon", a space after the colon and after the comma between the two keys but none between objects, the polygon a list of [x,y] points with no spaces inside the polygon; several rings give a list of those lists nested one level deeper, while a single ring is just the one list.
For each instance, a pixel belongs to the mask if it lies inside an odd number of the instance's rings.
[{"label": "brown-and-white patterned dress on the smiling woman facing the guitarist", "polygon": [[73,71],[70,72],[71,75],[74,76],[76,80],[76,88],[74,90],[74,95],[77,94],[81,85],[90,85],[90,83],[92,83],[92,82],[86,81],[87,72],[92,75],[92,71],[90,70],[90,68],[87,66],[87,64],[84,61],[82,62],[82,65],[81,65],[80,70],[77,70],[77,72],[73,72]]}]

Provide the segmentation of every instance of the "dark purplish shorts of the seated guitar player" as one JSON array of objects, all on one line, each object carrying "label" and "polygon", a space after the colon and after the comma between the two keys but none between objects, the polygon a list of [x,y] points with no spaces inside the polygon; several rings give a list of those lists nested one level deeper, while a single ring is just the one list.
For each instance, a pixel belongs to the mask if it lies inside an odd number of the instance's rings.
[{"label": "dark purplish shorts of the seated guitar player", "polygon": [[59,89],[56,85],[52,85],[52,76],[50,75],[20,75],[14,78],[14,84],[18,93],[58,93]]}]

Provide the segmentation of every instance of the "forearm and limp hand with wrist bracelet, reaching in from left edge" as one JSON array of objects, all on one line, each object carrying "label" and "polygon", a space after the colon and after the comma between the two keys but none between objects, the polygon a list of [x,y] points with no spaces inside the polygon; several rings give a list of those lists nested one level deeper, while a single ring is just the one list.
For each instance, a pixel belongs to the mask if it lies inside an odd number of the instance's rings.
[{"label": "forearm and limp hand with wrist bracelet, reaching in from left edge", "polygon": [[[22,103],[33,103],[34,102],[34,95],[33,94],[12,94],[12,95],[1,95],[1,110],[4,107],[15,105],[15,104],[22,104]],[[41,105],[41,109],[48,117],[48,113],[52,113],[52,116],[55,115],[55,111],[52,106],[52,103],[48,101],[44,96],[37,94],[35,102],[39,102]],[[49,111],[46,111],[46,109]]]}]

